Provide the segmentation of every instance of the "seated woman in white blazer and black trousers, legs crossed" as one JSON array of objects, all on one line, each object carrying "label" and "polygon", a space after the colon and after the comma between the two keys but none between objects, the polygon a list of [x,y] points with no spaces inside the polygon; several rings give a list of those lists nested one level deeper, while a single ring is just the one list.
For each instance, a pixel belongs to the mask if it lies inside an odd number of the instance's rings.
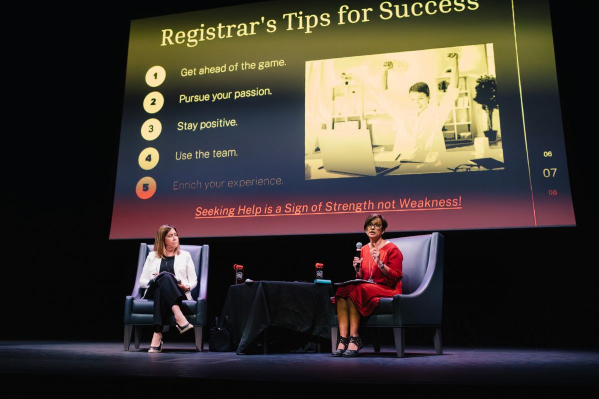
[{"label": "seated woman in white blazer and black trousers, legs crossed", "polygon": [[198,277],[189,252],[181,250],[177,229],[162,225],[156,232],[154,250],[141,271],[140,287],[147,288],[144,298],[154,300],[154,335],[149,353],[162,352],[162,326],[175,316],[177,330],[183,334],[193,328],[181,312],[181,301],[191,300]]}]

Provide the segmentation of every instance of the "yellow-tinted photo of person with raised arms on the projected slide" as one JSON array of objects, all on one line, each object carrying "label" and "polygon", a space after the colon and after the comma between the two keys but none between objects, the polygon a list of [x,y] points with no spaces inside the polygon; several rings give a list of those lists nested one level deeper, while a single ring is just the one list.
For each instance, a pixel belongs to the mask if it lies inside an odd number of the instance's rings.
[{"label": "yellow-tinted photo of person with raised arms on the projected slide", "polygon": [[503,170],[493,44],[305,63],[305,179]]}]

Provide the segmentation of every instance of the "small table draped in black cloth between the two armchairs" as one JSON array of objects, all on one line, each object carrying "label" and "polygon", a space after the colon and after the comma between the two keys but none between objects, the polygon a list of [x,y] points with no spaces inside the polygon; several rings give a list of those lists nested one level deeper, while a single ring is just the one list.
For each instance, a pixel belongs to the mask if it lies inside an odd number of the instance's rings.
[{"label": "small table draped in black cloth between the two armchairs", "polygon": [[[270,326],[330,340],[332,295],[331,285],[315,283],[256,281],[232,285],[220,314],[219,327],[222,328],[228,318],[226,327],[233,345],[237,345],[238,355]],[[267,352],[266,346],[264,352]]]}]

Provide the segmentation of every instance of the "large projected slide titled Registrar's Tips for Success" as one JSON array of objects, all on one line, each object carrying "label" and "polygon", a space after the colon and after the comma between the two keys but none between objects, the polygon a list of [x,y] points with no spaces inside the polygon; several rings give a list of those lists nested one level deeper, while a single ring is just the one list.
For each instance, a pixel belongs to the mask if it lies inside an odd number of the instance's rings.
[{"label": "large projected slide titled Registrar's Tips for Success", "polygon": [[545,1],[131,22],[110,238],[575,225]]}]

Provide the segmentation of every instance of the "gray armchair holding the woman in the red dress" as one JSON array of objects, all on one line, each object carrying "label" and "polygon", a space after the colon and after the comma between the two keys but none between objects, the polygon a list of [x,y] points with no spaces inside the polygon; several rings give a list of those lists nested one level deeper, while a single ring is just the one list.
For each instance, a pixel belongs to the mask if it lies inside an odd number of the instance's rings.
[{"label": "gray armchair holding the woman in the red dress", "polygon": [[[441,312],[443,310],[443,235],[438,232],[412,237],[391,238],[404,256],[403,294],[382,298],[374,313],[364,319],[364,327],[392,327],[397,356],[404,357],[407,327],[435,327],[434,346],[443,353]],[[333,305],[334,306],[334,305]],[[337,347],[337,312],[332,309],[331,343]],[[334,350],[334,349],[333,349]],[[374,351],[380,352],[379,341]]]}]

